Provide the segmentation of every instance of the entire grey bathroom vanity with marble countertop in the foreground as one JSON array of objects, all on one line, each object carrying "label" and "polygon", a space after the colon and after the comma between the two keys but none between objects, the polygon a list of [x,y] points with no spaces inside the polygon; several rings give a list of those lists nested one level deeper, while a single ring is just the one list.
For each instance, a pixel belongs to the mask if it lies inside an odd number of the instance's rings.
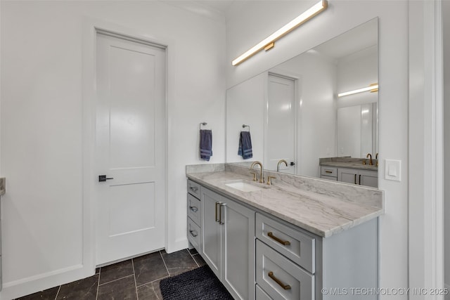
[{"label": "entire grey bathroom vanity with marble countertop in the foreground", "polygon": [[186,167],[188,240],[235,299],[359,299],[357,288],[378,287],[383,191],[202,166]]}]

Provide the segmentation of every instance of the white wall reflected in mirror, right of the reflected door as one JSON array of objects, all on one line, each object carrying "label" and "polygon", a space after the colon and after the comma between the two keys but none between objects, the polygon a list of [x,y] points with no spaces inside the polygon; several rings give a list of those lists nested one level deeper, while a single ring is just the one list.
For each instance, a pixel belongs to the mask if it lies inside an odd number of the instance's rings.
[{"label": "white wall reflected in mirror, right of the reflected door", "polygon": [[336,64],[307,52],[275,68],[299,77],[297,174],[319,177],[319,157],[336,155]]}]

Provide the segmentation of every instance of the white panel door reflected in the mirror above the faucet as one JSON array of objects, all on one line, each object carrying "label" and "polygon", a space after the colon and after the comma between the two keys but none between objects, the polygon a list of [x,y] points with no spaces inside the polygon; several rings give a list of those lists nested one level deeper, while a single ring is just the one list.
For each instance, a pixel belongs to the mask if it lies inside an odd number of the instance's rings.
[{"label": "white panel door reflected in the mirror above the faucet", "polygon": [[264,167],[276,170],[278,161],[285,159],[288,167],[280,164],[280,171],[295,174],[295,81],[269,74],[268,91]]}]

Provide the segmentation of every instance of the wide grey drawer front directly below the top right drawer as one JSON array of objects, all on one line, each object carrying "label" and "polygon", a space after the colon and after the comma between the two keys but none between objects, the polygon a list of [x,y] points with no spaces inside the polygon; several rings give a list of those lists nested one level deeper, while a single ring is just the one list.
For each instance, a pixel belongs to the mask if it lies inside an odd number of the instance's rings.
[{"label": "wide grey drawer front directly below the top right drawer", "polygon": [[256,241],[256,283],[272,299],[314,299],[314,275],[259,240]]}]

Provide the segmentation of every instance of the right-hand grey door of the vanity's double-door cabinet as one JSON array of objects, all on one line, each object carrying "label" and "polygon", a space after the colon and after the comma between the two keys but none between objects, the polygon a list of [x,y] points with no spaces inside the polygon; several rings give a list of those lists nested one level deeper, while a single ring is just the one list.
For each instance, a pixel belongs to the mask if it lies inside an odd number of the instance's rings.
[{"label": "right-hand grey door of the vanity's double-door cabinet", "polygon": [[255,211],[226,199],[221,207],[224,286],[234,299],[255,299]]}]

